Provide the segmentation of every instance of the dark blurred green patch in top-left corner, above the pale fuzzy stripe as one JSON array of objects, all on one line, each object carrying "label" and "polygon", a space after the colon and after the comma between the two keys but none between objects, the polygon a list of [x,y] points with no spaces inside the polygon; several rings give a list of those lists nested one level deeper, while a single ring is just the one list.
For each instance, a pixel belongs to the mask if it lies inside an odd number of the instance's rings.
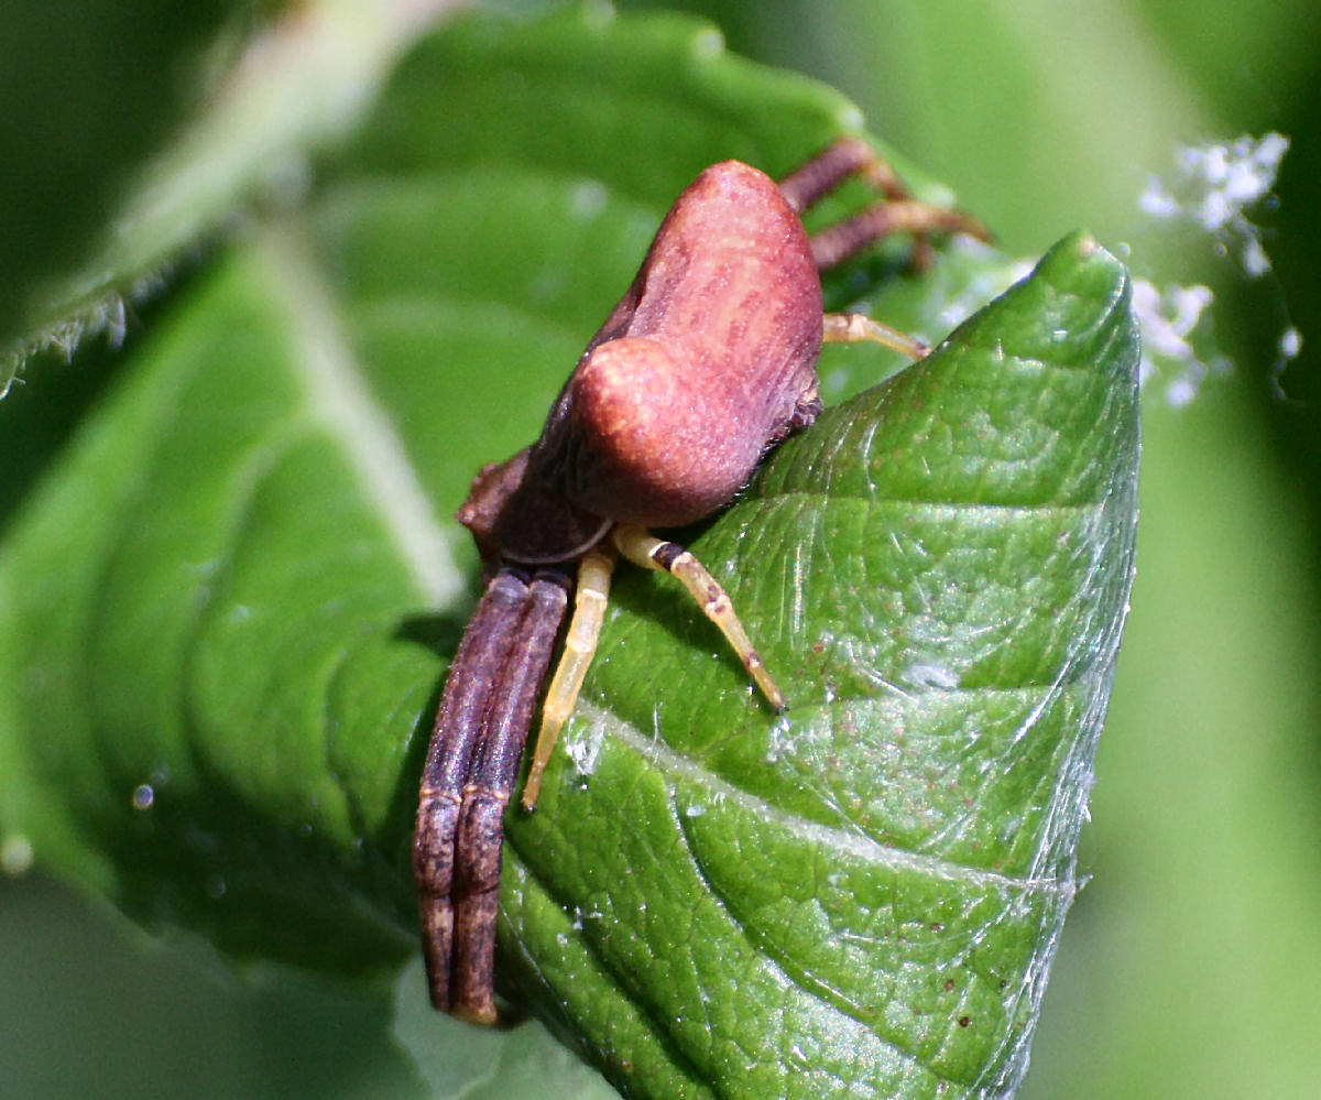
[{"label": "dark blurred green patch in top-left corner, above the pale fuzzy stripe", "polygon": [[[87,259],[127,178],[192,106],[184,79],[236,5],[11,0],[0,25],[0,393],[44,280]],[[145,33],[144,33],[145,32]]]}]

